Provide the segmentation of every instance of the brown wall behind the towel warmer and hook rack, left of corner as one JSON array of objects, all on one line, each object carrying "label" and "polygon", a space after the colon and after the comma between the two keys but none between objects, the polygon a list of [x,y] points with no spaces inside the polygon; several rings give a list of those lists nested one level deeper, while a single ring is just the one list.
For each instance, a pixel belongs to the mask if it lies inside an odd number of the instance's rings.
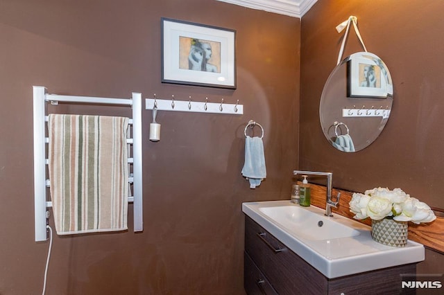
[{"label": "brown wall behind the towel warmer and hook rack, left of corner", "polygon": [[[159,143],[148,141],[144,110],[144,232],[128,222],[127,233],[56,236],[47,294],[244,294],[241,203],[287,199],[298,166],[300,19],[207,0],[0,8],[0,294],[42,292],[49,242],[34,242],[33,85],[244,105],[243,116],[160,111]],[[237,30],[237,89],[162,84],[160,17]],[[268,175],[256,190],[240,173],[250,119],[265,129]]]}]

